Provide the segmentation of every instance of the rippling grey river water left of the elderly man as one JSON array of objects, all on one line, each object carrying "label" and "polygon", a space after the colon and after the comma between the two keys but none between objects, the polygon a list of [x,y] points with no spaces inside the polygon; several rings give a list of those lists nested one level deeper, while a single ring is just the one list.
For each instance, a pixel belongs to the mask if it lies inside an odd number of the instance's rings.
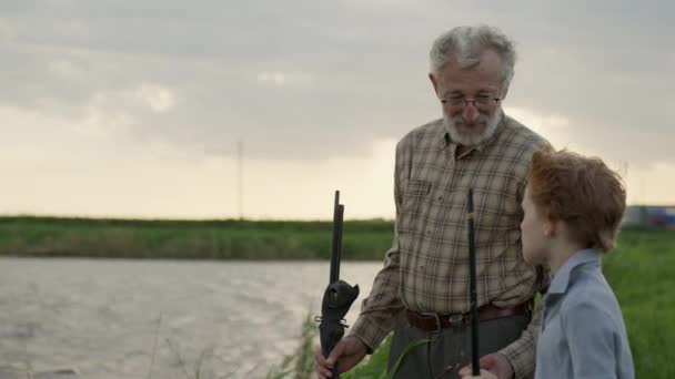
[{"label": "rippling grey river water left of the elderly man", "polygon": [[[347,324],[381,265],[343,263],[342,278],[361,287]],[[320,313],[328,274],[328,262],[0,258],[0,366],[264,378]]]}]

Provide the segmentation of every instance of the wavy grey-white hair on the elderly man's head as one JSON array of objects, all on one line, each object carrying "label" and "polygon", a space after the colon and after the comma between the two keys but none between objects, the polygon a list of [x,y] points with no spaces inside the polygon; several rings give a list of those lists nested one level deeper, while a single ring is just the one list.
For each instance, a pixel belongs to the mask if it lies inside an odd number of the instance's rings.
[{"label": "wavy grey-white hair on the elderly man's head", "polygon": [[474,68],[486,50],[493,50],[502,59],[502,86],[507,89],[515,66],[514,43],[502,31],[487,25],[459,27],[436,38],[429,52],[431,73],[439,78],[451,59],[462,69]]}]

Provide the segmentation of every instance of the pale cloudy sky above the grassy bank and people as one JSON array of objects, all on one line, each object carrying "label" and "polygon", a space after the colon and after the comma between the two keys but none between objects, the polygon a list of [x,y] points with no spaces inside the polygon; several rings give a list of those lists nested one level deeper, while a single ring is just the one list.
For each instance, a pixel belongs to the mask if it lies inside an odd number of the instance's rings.
[{"label": "pale cloudy sky above the grassy bank and people", "polygon": [[[393,218],[429,49],[500,28],[507,114],[675,204],[672,1],[2,0],[0,215]],[[238,147],[239,146],[239,147]]]}]

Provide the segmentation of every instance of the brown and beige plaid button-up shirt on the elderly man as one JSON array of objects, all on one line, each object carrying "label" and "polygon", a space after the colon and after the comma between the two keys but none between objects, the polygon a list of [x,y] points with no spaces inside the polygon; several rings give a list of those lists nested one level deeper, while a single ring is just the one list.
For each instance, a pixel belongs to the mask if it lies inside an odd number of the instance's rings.
[{"label": "brown and beige plaid button-up shirt on the elderly man", "polygon": [[[467,151],[450,141],[442,120],[410,132],[396,146],[395,236],[363,300],[352,335],[371,349],[407,308],[470,310],[466,198],[474,193],[478,306],[511,307],[536,295],[536,269],[521,254],[521,201],[532,153],[547,142],[505,115],[494,135]],[[540,313],[504,348],[516,378],[534,370]]]}]

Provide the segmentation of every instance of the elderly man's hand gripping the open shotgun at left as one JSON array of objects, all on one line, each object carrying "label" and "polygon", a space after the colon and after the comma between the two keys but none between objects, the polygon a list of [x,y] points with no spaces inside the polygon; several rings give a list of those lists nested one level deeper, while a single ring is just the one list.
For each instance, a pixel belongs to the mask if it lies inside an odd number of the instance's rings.
[{"label": "elderly man's hand gripping the open shotgun at left", "polygon": [[365,357],[367,347],[355,336],[346,336],[341,339],[328,359],[323,357],[323,352],[319,348],[315,356],[319,379],[331,378],[333,376],[332,370],[335,361],[338,361],[338,371],[344,372],[356,366]]}]

